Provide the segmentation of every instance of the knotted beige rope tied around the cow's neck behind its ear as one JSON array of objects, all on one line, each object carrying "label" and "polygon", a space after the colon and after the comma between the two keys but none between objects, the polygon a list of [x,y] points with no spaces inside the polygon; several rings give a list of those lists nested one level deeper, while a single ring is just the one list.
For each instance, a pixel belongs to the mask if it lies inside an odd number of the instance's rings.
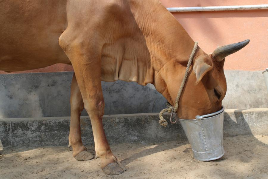
[{"label": "knotted beige rope tied around the cow's neck behind its ear", "polygon": [[181,92],[183,90],[183,87],[185,85],[185,82],[186,82],[186,79],[188,77],[188,73],[189,73],[189,69],[190,69],[190,66],[192,64],[192,61],[193,61],[193,58],[194,58],[194,54],[195,54],[195,51],[197,50],[197,47],[198,47],[198,42],[195,42],[194,43],[194,48],[192,50],[192,53],[189,57],[189,60],[188,60],[188,64],[187,64],[187,67],[186,67],[186,71],[185,71],[185,74],[184,74],[184,77],[183,77],[183,80],[180,84],[180,89],[178,91],[178,94],[177,94],[177,98],[176,98],[176,101],[175,101],[175,105],[172,106],[169,102],[166,103],[166,108],[165,109],[162,109],[161,112],[159,113],[159,123],[161,126],[164,126],[166,127],[167,126],[167,121],[166,119],[163,117],[163,113],[164,112],[168,112],[168,113],[171,113],[171,112],[177,112],[178,108],[179,108],[179,100],[180,100],[180,95],[181,95]]}]

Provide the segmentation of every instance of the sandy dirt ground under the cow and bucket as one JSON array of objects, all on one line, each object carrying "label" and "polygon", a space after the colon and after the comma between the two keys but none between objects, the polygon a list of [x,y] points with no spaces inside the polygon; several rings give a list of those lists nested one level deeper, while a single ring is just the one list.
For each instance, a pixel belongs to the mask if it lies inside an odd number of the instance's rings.
[{"label": "sandy dirt ground under the cow and bucket", "polygon": [[[192,158],[187,141],[114,144],[113,153],[127,168],[114,176],[102,172],[100,159],[76,161],[67,147],[4,149],[0,151],[0,178],[264,179],[268,178],[267,146],[268,136],[228,137],[221,159],[202,162]],[[87,148],[94,153],[92,146]]]}]

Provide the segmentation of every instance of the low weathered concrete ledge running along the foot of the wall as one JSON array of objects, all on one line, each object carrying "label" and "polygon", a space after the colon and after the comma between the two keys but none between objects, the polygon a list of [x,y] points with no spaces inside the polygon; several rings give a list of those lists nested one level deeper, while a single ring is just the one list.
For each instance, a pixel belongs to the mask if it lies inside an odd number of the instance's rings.
[{"label": "low weathered concrete ledge running along the foot of the wall", "polygon": [[[267,116],[268,108],[227,109],[224,136],[267,135]],[[158,120],[158,113],[105,115],[103,124],[110,143],[186,140],[179,123],[164,128]],[[70,117],[0,119],[0,140],[4,147],[67,146],[69,124]],[[88,117],[81,117],[81,130],[83,143],[93,143]]]}]

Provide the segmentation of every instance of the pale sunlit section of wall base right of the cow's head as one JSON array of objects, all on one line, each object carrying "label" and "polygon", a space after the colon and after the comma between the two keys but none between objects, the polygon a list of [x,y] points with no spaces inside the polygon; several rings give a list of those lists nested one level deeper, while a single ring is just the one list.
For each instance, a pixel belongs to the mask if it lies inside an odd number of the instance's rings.
[{"label": "pale sunlit section of wall base right of the cow's head", "polygon": [[262,72],[224,70],[227,93],[222,105],[225,109],[267,108],[268,91]]}]

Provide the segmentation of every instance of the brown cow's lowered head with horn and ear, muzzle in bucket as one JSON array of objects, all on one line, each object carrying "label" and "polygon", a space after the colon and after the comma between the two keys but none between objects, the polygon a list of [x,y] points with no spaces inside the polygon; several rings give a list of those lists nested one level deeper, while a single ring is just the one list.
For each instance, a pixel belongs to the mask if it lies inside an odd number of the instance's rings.
[{"label": "brown cow's lowered head with horn and ear, muzzle in bucket", "polygon": [[[225,57],[242,49],[248,43],[249,40],[245,40],[225,45],[211,54],[197,49],[179,101],[177,114],[180,118],[195,119],[196,115],[210,114],[221,109],[222,99],[227,90],[223,71]],[[169,102],[172,105],[176,100],[184,72],[185,70],[176,72],[177,77],[173,76],[171,80],[166,81],[167,93],[171,98]]]}]

